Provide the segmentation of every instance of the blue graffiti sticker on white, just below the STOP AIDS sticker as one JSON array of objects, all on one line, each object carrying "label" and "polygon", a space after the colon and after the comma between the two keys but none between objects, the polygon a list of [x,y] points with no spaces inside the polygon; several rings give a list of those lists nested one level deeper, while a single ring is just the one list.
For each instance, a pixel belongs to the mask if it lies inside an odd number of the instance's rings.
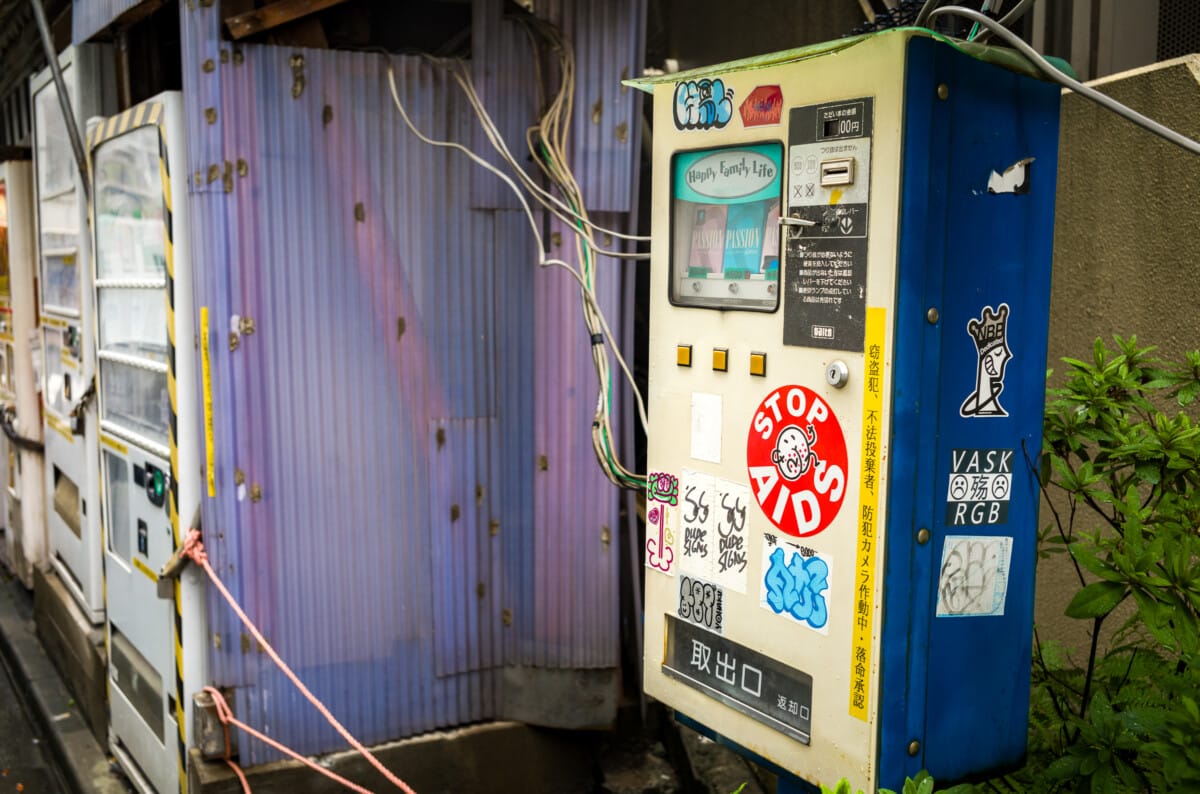
[{"label": "blue graffiti sticker on white, just below the STOP AIDS sticker", "polygon": [[767,534],[762,545],[762,570],[758,606],[822,634],[829,633],[833,565],[828,554]]}]

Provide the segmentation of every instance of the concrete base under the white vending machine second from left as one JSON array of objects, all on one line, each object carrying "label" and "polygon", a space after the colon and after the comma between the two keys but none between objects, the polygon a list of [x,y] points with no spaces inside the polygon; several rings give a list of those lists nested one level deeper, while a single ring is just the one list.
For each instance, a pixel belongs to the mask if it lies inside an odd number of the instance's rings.
[{"label": "concrete base under the white vending machine second from left", "polygon": [[92,626],[53,571],[34,573],[34,622],[80,714],[101,747],[108,746],[104,628]]}]

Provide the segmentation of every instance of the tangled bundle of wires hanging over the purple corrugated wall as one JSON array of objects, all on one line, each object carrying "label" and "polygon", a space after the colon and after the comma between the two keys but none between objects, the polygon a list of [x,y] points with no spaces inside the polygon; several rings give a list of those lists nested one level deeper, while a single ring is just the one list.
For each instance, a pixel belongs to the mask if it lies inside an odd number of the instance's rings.
[{"label": "tangled bundle of wires hanging over the purple corrugated wall", "polygon": [[[642,474],[635,474],[629,467],[624,465],[617,453],[617,445],[612,428],[613,393],[616,384],[613,381],[614,379],[608,359],[610,355],[617,361],[629,381],[643,431],[646,431],[648,425],[646,404],[642,399],[640,390],[637,389],[637,384],[634,380],[632,372],[620,353],[617,339],[613,336],[612,330],[608,327],[608,323],[605,319],[604,312],[601,311],[600,303],[596,299],[596,259],[599,257],[613,259],[644,259],[648,254],[601,248],[595,242],[595,235],[596,233],[601,233],[610,237],[634,242],[647,241],[649,237],[606,229],[594,223],[588,217],[587,209],[583,204],[582,190],[575,180],[568,160],[570,119],[575,101],[574,48],[570,42],[563,37],[562,31],[548,22],[530,16],[521,17],[520,23],[524,26],[534,48],[538,85],[540,90],[542,89],[542,78],[545,77],[541,61],[542,50],[548,50],[553,60],[557,61],[558,86],[553,91],[552,98],[545,103],[545,109],[541,112],[538,120],[526,131],[526,144],[529,149],[529,154],[533,156],[534,162],[538,163],[541,174],[548,181],[552,190],[546,190],[539,185],[538,180],[530,176],[522,168],[521,163],[518,163],[514,157],[512,152],[508,148],[508,144],[504,142],[499,128],[496,126],[491,114],[488,114],[479,97],[479,94],[475,91],[474,82],[472,80],[470,71],[467,66],[461,60],[431,60],[446,68],[449,74],[462,89],[468,102],[470,103],[472,109],[479,118],[488,143],[499,155],[500,160],[516,175],[524,191],[528,191],[528,193],[533,196],[533,198],[551,215],[563,221],[568,224],[568,228],[575,233],[575,248],[580,261],[578,269],[566,261],[563,261],[562,259],[546,258],[546,248],[542,241],[542,235],[538,228],[538,221],[529,207],[528,200],[526,199],[526,192],[522,191],[521,187],[518,187],[506,174],[461,144],[445,140],[433,140],[416,130],[400,101],[400,95],[396,90],[395,72],[389,62],[388,79],[391,85],[392,100],[396,104],[396,109],[401,113],[404,124],[418,138],[431,145],[457,149],[470,157],[476,164],[499,176],[516,193],[522,207],[526,211],[529,219],[529,227],[538,243],[538,264],[544,267],[560,267],[568,271],[575,281],[578,282],[583,323],[592,342],[592,360],[595,366],[596,378],[599,381],[596,408],[592,421],[592,446],[595,451],[596,459],[600,463],[600,468],[611,482],[624,488],[641,489],[646,487],[646,476]],[[558,196],[556,196],[554,192],[557,192]]]}]

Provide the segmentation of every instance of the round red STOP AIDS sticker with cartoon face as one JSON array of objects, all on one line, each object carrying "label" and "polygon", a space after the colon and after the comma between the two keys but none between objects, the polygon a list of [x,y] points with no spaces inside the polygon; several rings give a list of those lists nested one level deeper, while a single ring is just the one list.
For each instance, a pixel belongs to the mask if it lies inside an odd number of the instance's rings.
[{"label": "round red STOP AIDS sticker with cartoon face", "polygon": [[780,386],[758,404],[746,440],[755,500],[781,531],[828,527],[846,497],[846,439],[829,405],[805,386]]}]

